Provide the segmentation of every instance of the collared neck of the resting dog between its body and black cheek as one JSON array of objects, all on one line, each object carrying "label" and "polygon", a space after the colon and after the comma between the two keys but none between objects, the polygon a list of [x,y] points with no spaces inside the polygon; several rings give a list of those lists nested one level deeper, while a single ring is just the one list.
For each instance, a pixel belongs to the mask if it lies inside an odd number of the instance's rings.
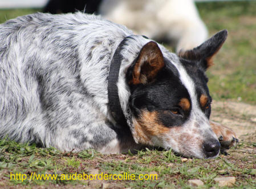
[{"label": "collared neck of the resting dog between its body and black cheek", "polygon": [[[143,37],[142,39],[148,39],[146,36],[142,36],[142,37]],[[129,89],[127,88],[127,84],[125,84],[126,81],[124,76],[126,74],[127,68],[131,65],[132,61],[128,60],[125,57],[125,55],[127,55],[125,51],[131,48],[131,44],[129,43],[131,43],[132,40],[137,40],[137,38],[141,38],[141,36],[129,35],[125,37],[120,42],[119,46],[116,48],[115,54],[113,55],[111,64],[109,66],[108,104],[109,104],[109,109],[111,110],[112,117],[116,121],[115,126],[117,128],[127,127],[127,122],[128,122],[128,125],[131,126],[129,124],[129,120],[131,120],[132,115],[128,108],[127,95],[124,95],[125,92],[128,92],[128,96],[129,96]],[[140,46],[138,47],[139,47],[138,51],[133,53],[133,55],[137,56],[137,54],[139,53],[139,50],[141,47]],[[121,71],[120,71],[120,68],[121,68]],[[126,116],[124,114],[126,114]]]}]

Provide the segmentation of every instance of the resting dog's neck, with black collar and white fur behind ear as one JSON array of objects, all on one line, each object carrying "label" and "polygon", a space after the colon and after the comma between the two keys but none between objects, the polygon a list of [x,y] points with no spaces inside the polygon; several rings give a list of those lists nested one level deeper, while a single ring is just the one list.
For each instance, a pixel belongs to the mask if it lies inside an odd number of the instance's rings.
[{"label": "resting dog's neck, with black collar and white fur behind ear", "polygon": [[[115,54],[112,57],[109,73],[110,76],[115,75],[115,79],[111,79],[109,82],[108,75],[108,91],[109,89],[113,89],[115,87],[117,89],[112,91],[112,93],[115,93],[113,95],[115,96],[115,101],[112,101],[112,97],[109,98],[108,93],[108,105],[109,109],[111,110],[111,122],[113,125],[115,125],[116,130],[126,130],[129,133],[133,133],[134,131],[134,116],[132,115],[131,109],[129,108],[129,97],[131,96],[131,92],[125,76],[127,69],[137,58],[141,48],[147,42],[149,42],[149,39],[147,39],[145,36],[129,35],[119,43],[119,46],[116,48]],[[120,69],[114,69],[115,73],[111,73],[111,67],[113,66],[113,63],[114,65],[117,64],[120,67]],[[113,87],[109,87],[109,84],[111,84]],[[112,104],[114,104],[114,106],[112,106]]]}]

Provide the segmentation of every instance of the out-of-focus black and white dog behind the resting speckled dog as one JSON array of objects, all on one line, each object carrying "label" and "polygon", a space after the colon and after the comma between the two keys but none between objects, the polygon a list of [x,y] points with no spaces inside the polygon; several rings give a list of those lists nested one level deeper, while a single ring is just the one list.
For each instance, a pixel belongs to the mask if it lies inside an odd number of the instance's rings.
[{"label": "out-of-focus black and white dog behind the resting speckled dog", "polygon": [[50,0],[44,12],[100,14],[123,24],[136,34],[191,50],[208,37],[207,28],[193,0]]}]

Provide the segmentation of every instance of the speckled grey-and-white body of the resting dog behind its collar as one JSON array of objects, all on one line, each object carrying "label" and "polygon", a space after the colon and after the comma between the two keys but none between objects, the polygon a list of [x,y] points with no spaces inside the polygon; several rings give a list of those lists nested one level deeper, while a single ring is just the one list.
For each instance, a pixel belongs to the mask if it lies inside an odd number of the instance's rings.
[{"label": "speckled grey-and-white body of the resting dog behind its collar", "polygon": [[[59,149],[69,149],[71,140],[79,146],[95,137],[90,129],[111,139],[108,129],[94,124],[107,114],[108,63],[131,34],[82,13],[37,13],[1,24],[0,137]],[[55,139],[56,133],[62,138]]]}]

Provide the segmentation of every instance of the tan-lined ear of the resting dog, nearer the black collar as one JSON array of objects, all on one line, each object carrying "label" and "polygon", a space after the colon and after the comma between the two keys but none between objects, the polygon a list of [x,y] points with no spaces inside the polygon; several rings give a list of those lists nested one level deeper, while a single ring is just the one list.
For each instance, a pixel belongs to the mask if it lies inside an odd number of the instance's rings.
[{"label": "tan-lined ear of the resting dog, nearer the black collar", "polygon": [[129,84],[147,84],[155,79],[164,67],[164,57],[156,42],[148,42],[141,48],[135,64],[132,65],[132,78]]}]

